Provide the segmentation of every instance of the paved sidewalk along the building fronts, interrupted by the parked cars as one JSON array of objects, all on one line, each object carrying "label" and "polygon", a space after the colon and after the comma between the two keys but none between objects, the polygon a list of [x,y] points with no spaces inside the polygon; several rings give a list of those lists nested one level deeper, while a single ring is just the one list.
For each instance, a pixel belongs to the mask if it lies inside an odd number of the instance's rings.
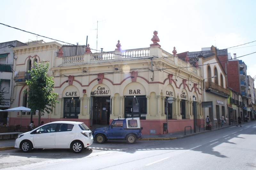
[{"label": "paved sidewalk along the building fronts, interrupted by the parked cars", "polygon": [[[247,123],[247,122],[244,122]],[[242,123],[242,124],[244,124]],[[234,125],[228,125],[228,124],[224,124],[222,125],[222,127],[217,126],[216,128],[216,124],[215,127],[213,127],[214,129],[212,130],[205,130],[205,128],[200,128],[200,132],[199,132],[199,128],[196,127],[196,133],[194,133],[194,129],[191,130],[192,133],[190,133],[190,128],[186,128],[186,135],[184,130],[180,131],[180,132],[173,132],[173,133],[168,133],[168,134],[163,134],[163,135],[142,135],[141,139],[138,140],[173,140],[173,139],[178,139],[178,138],[184,138],[184,137],[189,137],[189,136],[193,136],[193,135],[197,135],[197,134],[201,134],[201,133],[207,133],[213,130],[219,130],[222,128],[228,128],[231,126],[236,126]],[[142,134],[143,134],[143,130],[142,130]],[[0,151],[3,150],[9,150],[9,149],[15,149],[14,148],[14,139],[11,140],[0,140]]]}]

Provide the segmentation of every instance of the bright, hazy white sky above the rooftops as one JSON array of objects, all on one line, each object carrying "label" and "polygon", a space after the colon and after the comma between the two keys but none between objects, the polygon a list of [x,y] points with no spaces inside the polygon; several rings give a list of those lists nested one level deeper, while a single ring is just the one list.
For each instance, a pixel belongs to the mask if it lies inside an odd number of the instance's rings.
[{"label": "bright, hazy white sky above the rooftops", "polygon": [[[156,30],[171,54],[174,46],[181,53],[213,45],[234,58],[256,52],[255,6],[255,0],[0,0],[0,23],[72,44],[85,45],[88,36],[90,48],[103,51],[114,51],[118,40],[123,50],[147,48]],[[0,42],[14,40],[53,41],[0,25]],[[239,59],[256,76],[256,53]]]}]

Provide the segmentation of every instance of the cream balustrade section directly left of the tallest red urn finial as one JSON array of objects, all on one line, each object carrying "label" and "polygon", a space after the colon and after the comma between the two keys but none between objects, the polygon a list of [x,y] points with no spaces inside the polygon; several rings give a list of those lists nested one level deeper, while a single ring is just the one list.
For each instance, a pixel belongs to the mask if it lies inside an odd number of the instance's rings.
[{"label": "cream balustrade section directly left of the tallest red urn finial", "polygon": [[138,48],[122,50],[122,58],[133,58],[133,57],[148,57],[149,48]]}]

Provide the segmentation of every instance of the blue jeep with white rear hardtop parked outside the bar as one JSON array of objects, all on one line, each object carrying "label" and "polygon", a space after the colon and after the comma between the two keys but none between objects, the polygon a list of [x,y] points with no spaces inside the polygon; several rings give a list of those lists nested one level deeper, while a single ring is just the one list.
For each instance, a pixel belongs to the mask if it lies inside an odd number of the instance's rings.
[{"label": "blue jeep with white rear hardtop parked outside the bar", "polygon": [[128,144],[134,144],[141,138],[140,118],[118,118],[113,119],[109,127],[97,128],[92,132],[96,142],[103,144],[107,140],[123,139]]}]

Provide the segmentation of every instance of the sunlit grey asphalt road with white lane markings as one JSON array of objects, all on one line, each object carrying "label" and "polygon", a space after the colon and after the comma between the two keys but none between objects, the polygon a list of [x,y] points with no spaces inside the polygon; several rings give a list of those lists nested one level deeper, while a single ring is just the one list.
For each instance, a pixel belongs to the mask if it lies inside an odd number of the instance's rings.
[{"label": "sunlit grey asphalt road with white lane markings", "polygon": [[256,169],[256,124],[176,140],[93,143],[81,154],[33,149],[0,152],[6,169]]}]

